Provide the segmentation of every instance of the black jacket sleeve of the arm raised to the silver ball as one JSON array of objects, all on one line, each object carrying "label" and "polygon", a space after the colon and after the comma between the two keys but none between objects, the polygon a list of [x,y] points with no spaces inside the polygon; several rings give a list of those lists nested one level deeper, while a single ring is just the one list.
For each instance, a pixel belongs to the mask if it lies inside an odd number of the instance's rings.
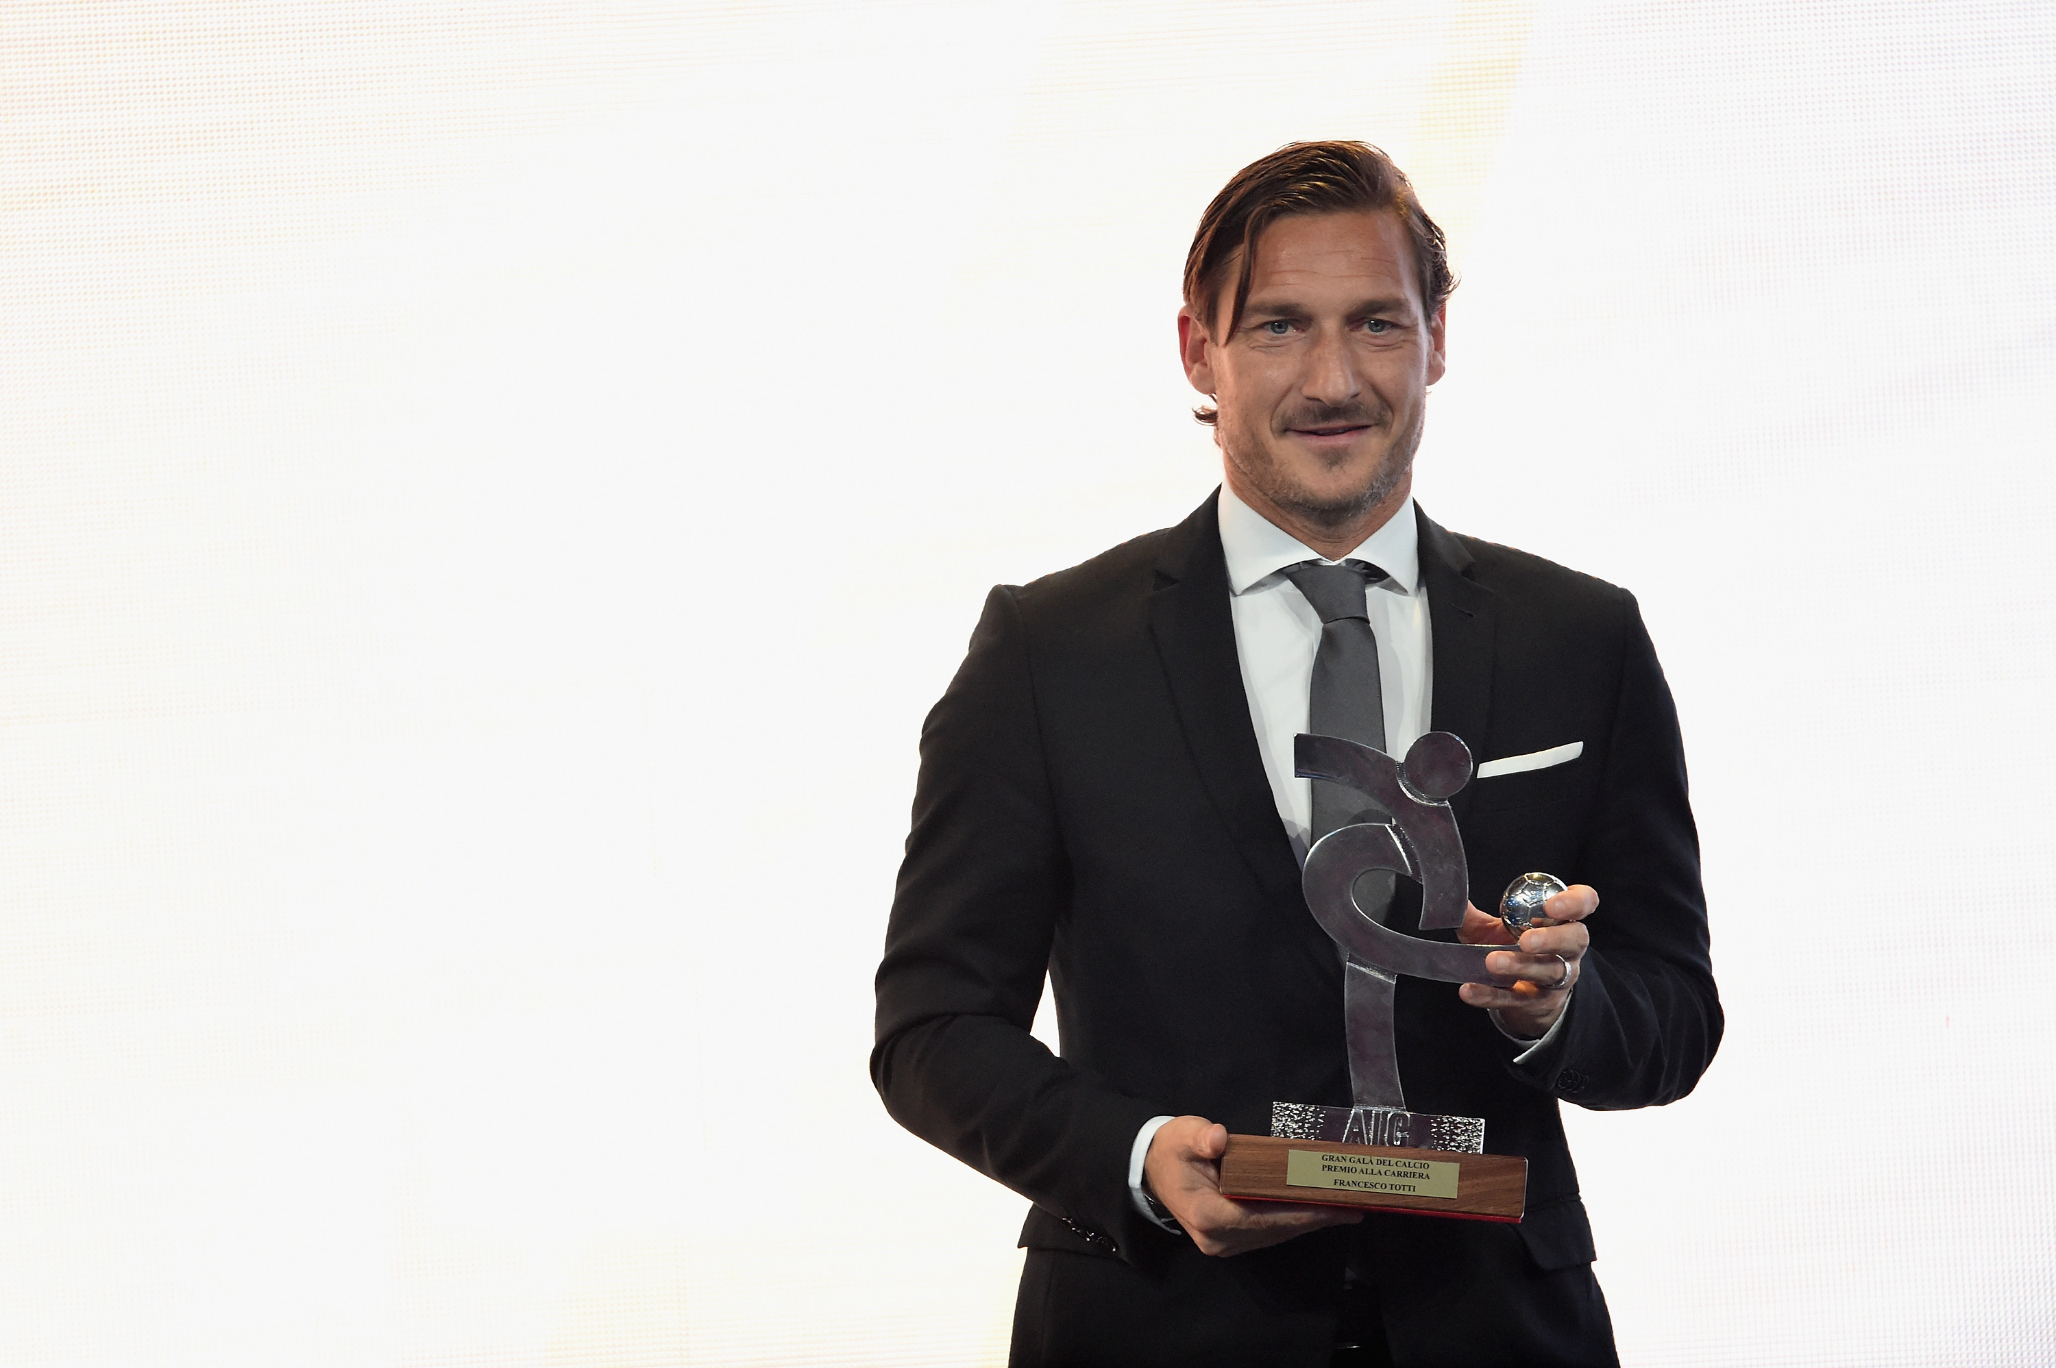
[{"label": "black jacket sleeve of the arm raised to the silver ball", "polygon": [[1565,1029],[1515,1076],[1598,1111],[1690,1093],[1721,1046],[1698,828],[1678,709],[1635,598],[1622,592],[1620,686],[1579,859],[1600,891]]}]

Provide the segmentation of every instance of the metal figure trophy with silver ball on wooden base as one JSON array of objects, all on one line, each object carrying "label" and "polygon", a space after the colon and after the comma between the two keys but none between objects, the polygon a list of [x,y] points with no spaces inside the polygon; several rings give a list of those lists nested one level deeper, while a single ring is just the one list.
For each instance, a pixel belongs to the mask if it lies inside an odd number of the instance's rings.
[{"label": "metal figure trophy with silver ball on wooden base", "polygon": [[[1480,1117],[1408,1111],[1392,1025],[1400,974],[1511,988],[1513,978],[1484,970],[1489,953],[1509,947],[1408,937],[1371,920],[1355,900],[1357,879],[1384,869],[1421,885],[1423,930],[1464,924],[1470,873],[1449,797],[1470,783],[1470,748],[1447,731],[1429,731],[1398,762],[1357,742],[1299,735],[1293,768],[1301,778],[1365,793],[1392,815],[1390,824],[1345,826],[1322,836],[1299,875],[1314,920],[1345,951],[1343,1017],[1355,1105],[1273,1103],[1269,1136],[1227,1138],[1221,1195],[1517,1222],[1528,1161],[1486,1154]],[[1501,920],[1519,935],[1563,887],[1550,875],[1521,875],[1501,900]]]}]

